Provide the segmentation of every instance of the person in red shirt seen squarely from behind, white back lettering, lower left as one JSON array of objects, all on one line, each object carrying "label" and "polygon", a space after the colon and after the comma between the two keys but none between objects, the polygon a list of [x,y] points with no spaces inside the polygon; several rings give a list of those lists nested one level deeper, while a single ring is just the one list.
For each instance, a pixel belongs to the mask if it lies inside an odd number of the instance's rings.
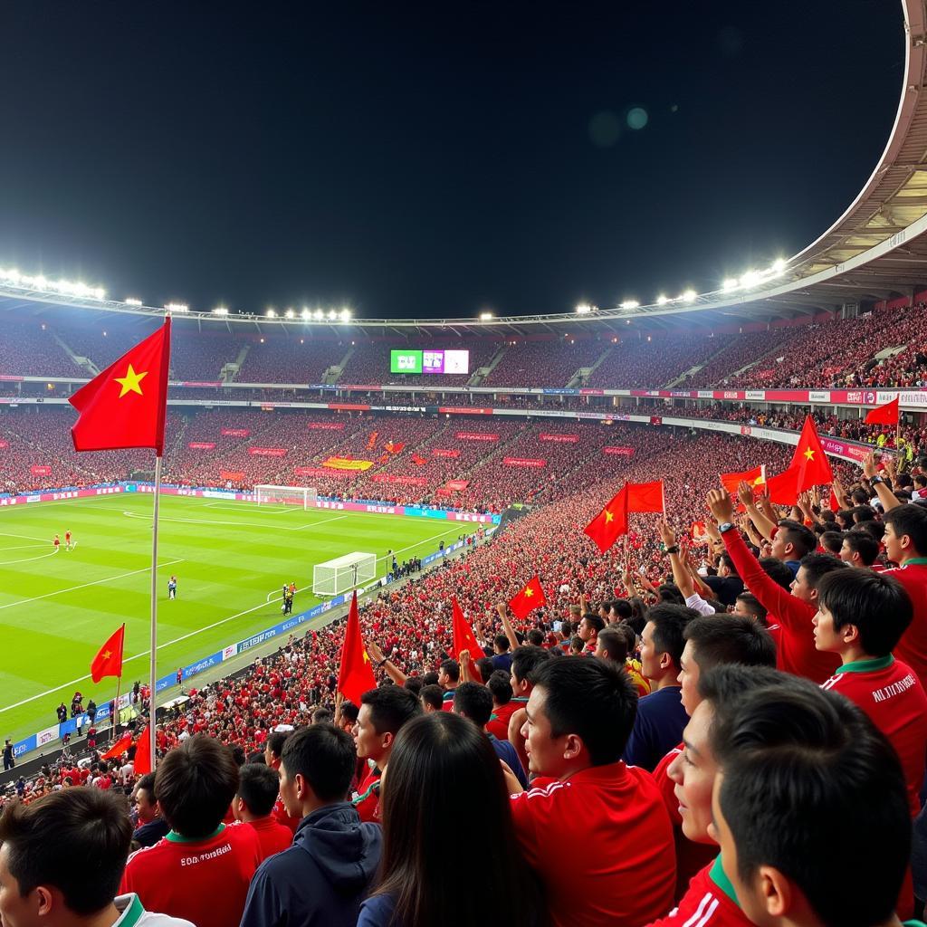
[{"label": "person in red shirt seen squarely from behind, white back lettering, lower left", "polygon": [[222,743],[197,734],[171,750],[155,777],[171,831],[129,857],[120,891],[197,927],[241,921],[261,851],[251,828],[221,823],[237,789],[238,767]]}]

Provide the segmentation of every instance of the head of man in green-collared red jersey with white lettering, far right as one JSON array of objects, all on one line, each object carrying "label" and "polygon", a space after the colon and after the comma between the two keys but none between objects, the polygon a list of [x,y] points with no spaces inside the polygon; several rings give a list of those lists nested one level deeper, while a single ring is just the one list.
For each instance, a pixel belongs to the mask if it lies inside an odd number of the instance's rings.
[{"label": "head of man in green-collared red jersey with white lettering, far right", "polygon": [[818,583],[815,647],[833,654],[891,654],[914,617],[897,579],[870,570],[830,573]]}]

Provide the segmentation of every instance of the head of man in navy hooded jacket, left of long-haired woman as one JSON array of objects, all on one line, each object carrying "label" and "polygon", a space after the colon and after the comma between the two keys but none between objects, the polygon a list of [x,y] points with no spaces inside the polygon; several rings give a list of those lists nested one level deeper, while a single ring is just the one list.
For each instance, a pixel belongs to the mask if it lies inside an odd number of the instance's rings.
[{"label": "head of man in navy hooded jacket, left of long-haired woman", "polygon": [[345,800],[357,763],[350,735],[332,724],[291,734],[280,762],[280,797],[291,818]]}]

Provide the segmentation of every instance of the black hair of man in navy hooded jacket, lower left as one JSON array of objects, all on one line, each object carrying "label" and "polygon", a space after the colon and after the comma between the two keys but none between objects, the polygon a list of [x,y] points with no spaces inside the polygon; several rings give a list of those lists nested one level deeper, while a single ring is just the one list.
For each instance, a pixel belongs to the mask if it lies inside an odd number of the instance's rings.
[{"label": "black hair of man in navy hooded jacket, lower left", "polygon": [[302,776],[322,802],[343,801],[357,764],[354,740],[334,724],[311,724],[290,734],[282,766],[286,776]]}]

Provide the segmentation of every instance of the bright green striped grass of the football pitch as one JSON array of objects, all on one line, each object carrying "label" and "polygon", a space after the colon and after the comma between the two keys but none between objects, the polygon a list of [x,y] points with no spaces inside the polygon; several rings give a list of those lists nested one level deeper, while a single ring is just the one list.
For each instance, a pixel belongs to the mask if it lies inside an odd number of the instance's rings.
[{"label": "bright green striped grass of the football pitch", "polygon": [[[0,508],[0,736],[18,740],[56,722],[76,688],[84,705],[112,698],[94,685],[96,651],[126,623],[125,685],[147,679],[152,497],[101,496]],[[407,557],[438,550],[467,527],[396,515],[259,506],[164,496],[158,571],[158,675],[221,650],[281,619],[280,588],[298,587],[294,614],[319,600],[312,566],[343,553]],[[64,533],[77,546],[64,550]],[[61,536],[61,550],[51,540]],[[176,600],[167,582],[176,574]],[[273,593],[276,602],[267,602]]]}]

